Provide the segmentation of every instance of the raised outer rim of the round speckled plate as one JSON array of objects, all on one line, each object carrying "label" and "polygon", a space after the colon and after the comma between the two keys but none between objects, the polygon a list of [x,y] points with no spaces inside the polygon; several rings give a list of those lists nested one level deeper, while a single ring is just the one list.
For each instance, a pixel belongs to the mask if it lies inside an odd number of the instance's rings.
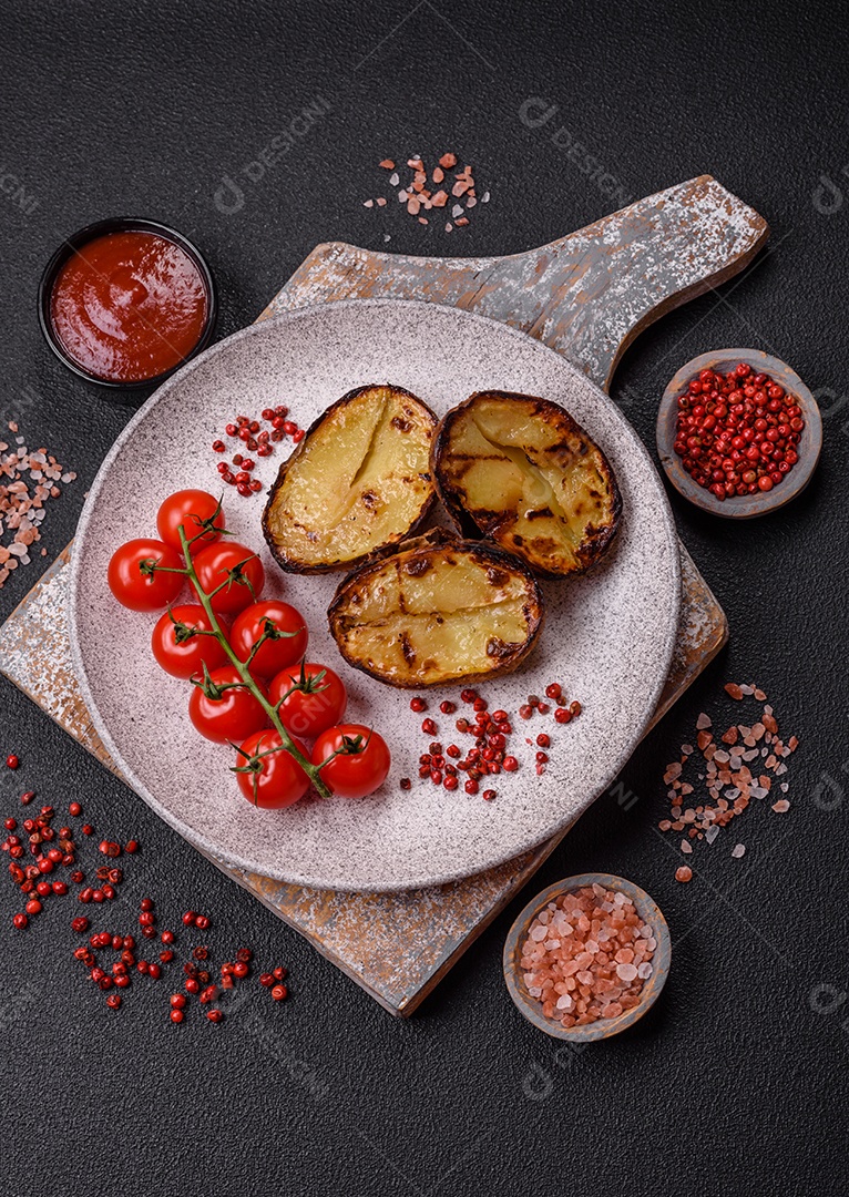
[{"label": "raised outer rim of the round speckled plate", "polygon": [[556,821],[554,825],[546,826],[539,834],[534,833],[533,838],[528,840],[517,851],[511,850],[509,855],[499,856],[497,859],[491,861],[489,864],[484,865],[480,869],[474,869],[472,871],[467,871],[465,869],[463,870],[451,869],[448,873],[439,873],[439,871],[429,873],[424,877],[413,877],[402,885],[399,883],[396,879],[392,881],[374,880],[368,886],[364,885],[354,886],[351,882],[345,882],[345,881],[328,882],[327,879],[316,879],[316,877],[309,877],[307,875],[301,875],[297,873],[297,870],[286,868],[285,865],[279,869],[275,869],[274,871],[268,871],[266,867],[259,869],[255,861],[250,861],[247,857],[241,856],[238,852],[232,851],[231,849],[225,849],[220,844],[212,843],[211,840],[206,839],[201,832],[198,832],[194,827],[184,822],[182,819],[178,819],[175,814],[172,814],[172,812],[169,810],[168,807],[163,806],[162,802],[159,802],[159,800],[147,790],[144,783],[135,776],[133,770],[123,760],[123,757],[119,751],[117,746],[115,745],[115,741],[113,740],[113,736],[109,731],[105,721],[99,713],[97,703],[95,701],[95,697],[89,685],[89,676],[83,661],[79,637],[77,634],[77,596],[79,591],[80,571],[81,571],[81,561],[84,558],[84,552],[81,551],[72,552],[69,601],[68,601],[68,631],[71,638],[71,660],[73,663],[77,681],[79,683],[86,709],[91,716],[91,721],[95,725],[95,729],[98,736],[101,737],[104,747],[109,752],[109,755],[111,757],[114,764],[119,768],[122,778],[126,780],[127,785],[135,794],[138,794],[138,796],[157,815],[159,815],[159,818],[163,819],[164,822],[166,822],[183,839],[186,839],[189,844],[192,844],[193,847],[195,847],[204,855],[211,856],[214,861],[226,867],[238,869],[242,873],[255,874],[259,876],[269,877],[271,880],[281,883],[303,886],[317,891],[339,891],[348,893],[405,893],[413,889],[425,889],[436,886],[448,885],[451,882],[465,880],[466,877],[469,876],[479,876],[483,873],[489,871],[490,869],[503,867],[509,861],[516,859],[524,852],[539,847],[540,844],[544,844],[546,840],[551,839],[553,836],[557,836],[559,832],[562,832],[564,827],[575,824],[577,819],[580,819],[583,814],[586,814],[586,812],[589,809],[589,807],[593,806],[596,798],[605,792],[611,780],[619,774],[619,772],[623,770],[623,767],[626,765],[626,762],[633,754],[635,748],[645,735],[645,730],[656,711],[657,701],[660,699],[660,695],[663,691],[663,686],[668,678],[669,666],[672,663],[672,657],[675,648],[675,639],[680,621],[681,554],[680,554],[678,530],[675,527],[672,506],[669,504],[669,499],[666,493],[666,487],[663,486],[661,476],[651,460],[649,450],[643,444],[643,440],[638,436],[637,431],[623,415],[619,407],[613,402],[611,396],[588,375],[582,373],[582,371],[580,371],[577,366],[572,361],[570,361],[570,359],[565,354],[559,353],[550,345],[546,345],[544,341],[540,341],[536,338],[530,336],[522,329],[514,328],[511,324],[507,324],[501,320],[493,320],[490,316],[483,316],[478,312],[467,311],[463,308],[456,308],[451,304],[431,303],[430,300],[425,299],[351,298],[351,299],[334,299],[330,300],[329,303],[320,302],[320,303],[308,304],[304,306],[295,308],[290,311],[279,312],[274,316],[269,316],[263,320],[256,320],[251,324],[248,324],[244,328],[237,329],[235,333],[231,333],[230,336],[225,336],[220,341],[216,341],[214,345],[210,346],[202,353],[198,354],[198,357],[192,358],[190,361],[187,361],[186,365],[181,366],[177,371],[175,371],[175,373],[172,373],[169,378],[166,378],[165,382],[162,383],[162,385],[159,385],[153,391],[153,394],[145,400],[145,402],[139,407],[138,412],[132,417],[132,419],[128,420],[128,423],[125,425],[125,427],[121,430],[115,442],[110,446],[107,456],[103,458],[103,462],[101,463],[101,467],[97,470],[97,474],[95,475],[91,487],[89,488],[87,497],[85,499],[83,510],[80,512],[77,523],[77,531],[74,534],[74,546],[79,545],[80,549],[84,548],[89,523],[91,521],[98,494],[104,485],[105,478],[109,470],[111,469],[113,463],[115,462],[116,457],[123,449],[127,440],[129,440],[129,438],[132,437],[133,432],[135,431],[135,427],[139,424],[141,424],[142,420],[146,419],[147,413],[157,403],[162,401],[162,397],[164,395],[166,395],[175,387],[181,385],[184,382],[184,379],[189,375],[192,375],[195,370],[206,366],[206,364],[211,359],[219,356],[220,353],[226,352],[230,348],[230,346],[236,345],[239,341],[247,340],[251,336],[256,336],[260,333],[262,333],[266,328],[275,328],[281,324],[297,323],[299,320],[309,318],[315,314],[323,312],[330,306],[334,309],[335,308],[350,309],[357,306],[366,306],[374,309],[374,308],[398,308],[401,305],[411,309],[418,308],[422,309],[423,311],[424,310],[430,311],[432,309],[437,309],[438,311],[447,315],[451,320],[481,322],[484,324],[497,328],[499,334],[502,335],[509,334],[510,336],[521,339],[522,341],[530,342],[534,346],[534,352],[539,351],[542,352],[544,354],[552,354],[554,358],[557,358],[560,365],[565,365],[566,369],[572,371],[581,382],[589,383],[590,387],[595,388],[595,390],[599,393],[600,401],[606,403],[608,408],[614,413],[615,418],[621,423],[625,435],[631,438],[631,440],[633,442],[633,448],[638,454],[642,454],[645,464],[649,467],[650,474],[655,478],[657,498],[660,500],[659,508],[662,515],[663,527],[671,545],[669,570],[672,572],[673,608],[671,613],[669,626],[666,628],[666,634],[663,639],[662,656],[665,667],[662,673],[659,675],[660,680],[656,682],[651,692],[650,701],[647,704],[648,710],[644,713],[642,721],[639,722],[637,730],[635,731],[633,741],[632,743],[625,746],[625,748],[623,748],[623,751],[617,755],[615,760],[612,762],[611,770],[608,771],[610,772],[608,779],[601,785],[601,788],[595,794],[589,795],[581,802],[577,813],[572,810],[568,815],[564,815],[562,820]]}]

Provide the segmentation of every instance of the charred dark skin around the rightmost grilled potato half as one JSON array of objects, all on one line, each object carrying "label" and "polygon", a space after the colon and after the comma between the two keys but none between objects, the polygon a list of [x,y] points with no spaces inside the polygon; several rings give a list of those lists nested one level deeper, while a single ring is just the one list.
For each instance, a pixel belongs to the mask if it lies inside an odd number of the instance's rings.
[{"label": "charred dark skin around the rightmost grilled potato half", "polygon": [[613,468],[602,449],[595,444],[595,442],[572,419],[564,407],[560,407],[559,403],[554,403],[551,400],[507,390],[475,391],[473,395],[469,395],[465,402],[459,403],[443,417],[431,448],[430,469],[436,482],[436,490],[439,499],[451,517],[451,521],[460,534],[467,539],[483,535],[491,537],[496,542],[498,542],[499,528],[505,522],[504,511],[483,509],[477,509],[473,512],[469,511],[462,500],[462,492],[460,487],[457,487],[448,476],[444,468],[445,461],[450,455],[451,432],[455,425],[467,414],[468,409],[477,401],[484,397],[521,402],[526,407],[526,411],[528,411],[529,415],[548,421],[556,421],[562,427],[564,437],[580,438],[584,445],[592,445],[596,455],[596,466],[605,479],[605,485],[607,486],[607,491],[610,493],[611,518],[607,523],[590,527],[584,534],[584,539],[575,554],[577,557],[577,566],[566,571],[548,570],[539,561],[533,560],[529,555],[523,555],[520,546],[503,546],[507,552],[516,553],[517,555],[521,554],[522,559],[540,578],[557,581],[564,577],[576,577],[581,573],[586,573],[587,570],[592,569],[592,566],[604,557],[619,530],[619,524],[621,522],[621,494],[619,492],[619,486],[617,485]]}]

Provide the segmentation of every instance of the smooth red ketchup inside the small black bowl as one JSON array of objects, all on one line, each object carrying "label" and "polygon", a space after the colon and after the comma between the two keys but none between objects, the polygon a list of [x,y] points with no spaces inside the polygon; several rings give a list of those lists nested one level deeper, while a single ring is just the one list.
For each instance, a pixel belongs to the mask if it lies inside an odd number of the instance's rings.
[{"label": "smooth red ketchup inside the small black bowl", "polygon": [[67,356],[105,382],[172,370],[204,335],[206,281],[180,245],[152,232],[110,232],[74,250],[50,293]]}]

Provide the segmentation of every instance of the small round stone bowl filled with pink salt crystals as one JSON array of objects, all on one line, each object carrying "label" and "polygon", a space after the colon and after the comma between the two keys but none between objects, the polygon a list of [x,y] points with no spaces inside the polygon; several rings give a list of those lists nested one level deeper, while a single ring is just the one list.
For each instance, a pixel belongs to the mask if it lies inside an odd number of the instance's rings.
[{"label": "small round stone bowl filled with pink salt crystals", "polygon": [[548,886],[504,944],[504,979],[528,1022],[590,1043],[632,1026],[669,972],[669,928],[645,891],[610,873]]}]

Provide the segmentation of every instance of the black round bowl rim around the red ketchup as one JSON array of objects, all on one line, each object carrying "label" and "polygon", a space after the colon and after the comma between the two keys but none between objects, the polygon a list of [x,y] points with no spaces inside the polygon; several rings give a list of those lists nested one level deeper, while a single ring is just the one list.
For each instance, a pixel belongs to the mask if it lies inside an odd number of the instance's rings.
[{"label": "black round bowl rim around the red ketchup", "polygon": [[[56,275],[73,253],[83,245],[86,245],[90,241],[93,241],[96,237],[103,237],[109,232],[151,232],[157,237],[162,237],[164,241],[172,242],[175,245],[178,245],[188,257],[192,259],[200,272],[201,279],[204,280],[207,300],[206,321],[204,322],[204,329],[198,344],[181,361],[177,361],[169,370],[165,370],[163,373],[156,375],[152,378],[134,379],[133,382],[115,382],[109,378],[99,378],[97,375],[85,370],[67,353],[53,327],[53,320],[50,318],[50,300],[53,298],[53,287],[56,281]],[[187,237],[183,237],[183,235],[177,232],[175,229],[169,229],[168,225],[160,224],[158,220],[144,220],[137,217],[111,217],[108,220],[98,220],[95,224],[86,225],[85,229],[80,229],[79,232],[73,233],[73,236],[62,242],[44,267],[44,273],[42,274],[41,284],[38,285],[38,322],[41,324],[41,330],[44,334],[44,340],[50,346],[53,352],[61,361],[65,363],[68,370],[73,370],[73,372],[79,375],[80,378],[85,378],[87,382],[95,382],[98,387],[108,387],[115,391],[134,391],[139,390],[141,387],[158,387],[159,383],[164,382],[165,378],[175,372],[175,370],[178,370],[184,361],[188,361],[190,358],[200,353],[201,350],[207,347],[212,340],[217,318],[218,292],[216,288],[216,280],[212,275],[212,271],[206,263],[206,260],[200,250],[193,245]]]}]

